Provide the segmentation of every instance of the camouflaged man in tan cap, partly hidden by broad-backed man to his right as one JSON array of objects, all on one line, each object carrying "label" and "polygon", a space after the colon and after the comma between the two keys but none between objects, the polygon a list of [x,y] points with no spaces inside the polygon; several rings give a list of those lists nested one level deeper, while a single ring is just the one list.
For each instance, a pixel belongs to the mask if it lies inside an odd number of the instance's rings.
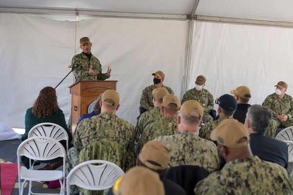
[{"label": "camouflaged man in tan cap, partly hidden by broad-backed man to his right", "polygon": [[178,132],[177,111],[179,108],[180,101],[176,96],[169,94],[163,98],[161,106],[163,118],[146,125],[146,128],[139,139],[139,149],[141,149],[146,142],[153,140],[156,137],[170,136]]}]

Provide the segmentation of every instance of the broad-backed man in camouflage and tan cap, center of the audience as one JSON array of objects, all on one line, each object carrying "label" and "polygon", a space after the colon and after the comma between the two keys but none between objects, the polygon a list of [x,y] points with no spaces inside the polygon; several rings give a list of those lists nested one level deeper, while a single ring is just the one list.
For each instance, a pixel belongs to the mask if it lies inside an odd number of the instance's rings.
[{"label": "broad-backed man in camouflage and tan cap, center of the audience", "polygon": [[155,138],[168,147],[170,166],[197,165],[209,172],[219,170],[221,159],[216,145],[196,134],[198,126],[202,123],[203,107],[195,100],[188,100],[183,103],[179,112],[179,132]]}]

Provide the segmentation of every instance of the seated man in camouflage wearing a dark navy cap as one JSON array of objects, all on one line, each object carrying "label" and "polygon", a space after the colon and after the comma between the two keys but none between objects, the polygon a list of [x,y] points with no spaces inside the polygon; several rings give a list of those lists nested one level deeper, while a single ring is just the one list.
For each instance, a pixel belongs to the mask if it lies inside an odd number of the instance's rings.
[{"label": "seated man in camouflage wearing a dark navy cap", "polygon": [[199,130],[199,137],[210,139],[210,132],[217,128],[219,124],[227,119],[232,118],[236,108],[237,108],[237,101],[236,99],[228,94],[225,94],[221,96],[220,98],[217,98],[215,100],[215,103],[219,105],[218,107],[218,113],[219,113],[219,119],[213,120],[208,122],[207,124],[203,125]]}]

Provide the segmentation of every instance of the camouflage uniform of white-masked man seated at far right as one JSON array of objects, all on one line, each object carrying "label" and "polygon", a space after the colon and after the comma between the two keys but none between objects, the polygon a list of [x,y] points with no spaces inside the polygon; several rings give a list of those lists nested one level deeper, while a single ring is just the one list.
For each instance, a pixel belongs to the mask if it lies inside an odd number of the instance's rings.
[{"label": "camouflage uniform of white-masked man seated at far right", "polygon": [[[281,99],[275,93],[269,95],[264,103],[264,106],[272,111],[272,123],[267,131],[268,137],[275,137],[275,133],[278,127],[290,127],[293,126],[293,98],[287,94]],[[288,119],[281,122],[276,118],[277,115],[286,114]]]}]

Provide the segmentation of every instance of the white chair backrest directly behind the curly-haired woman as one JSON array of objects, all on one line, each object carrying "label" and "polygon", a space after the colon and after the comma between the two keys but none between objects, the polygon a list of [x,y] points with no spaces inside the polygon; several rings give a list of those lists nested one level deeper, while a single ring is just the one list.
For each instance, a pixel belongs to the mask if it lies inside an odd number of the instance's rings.
[{"label": "white chair backrest directly behind the curly-haired woman", "polygon": [[57,141],[66,140],[66,151],[68,150],[68,134],[66,130],[58,124],[43,122],[33,126],[27,137],[51,137]]}]

